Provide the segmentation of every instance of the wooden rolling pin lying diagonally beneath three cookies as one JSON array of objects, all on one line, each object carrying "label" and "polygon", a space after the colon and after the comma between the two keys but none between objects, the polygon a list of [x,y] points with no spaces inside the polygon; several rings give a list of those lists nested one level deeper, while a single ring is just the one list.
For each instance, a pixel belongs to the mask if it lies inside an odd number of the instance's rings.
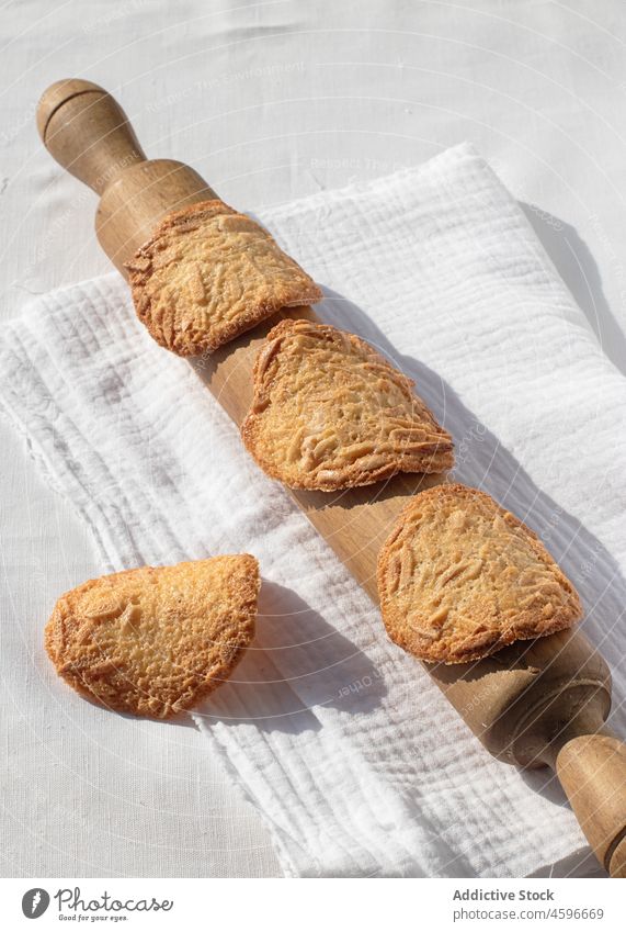
[{"label": "wooden rolling pin lying diagonally beneath three cookies", "polygon": [[[186,165],[146,159],[123,110],[89,81],[49,87],[37,125],[54,158],[100,194],[98,238],[122,274],[123,263],[163,216],[217,196]],[[309,307],[289,314],[317,319]],[[196,367],[236,424],[251,400],[253,358],[275,323],[257,327]],[[377,602],[378,550],[399,510],[419,489],[445,481],[443,475],[399,475],[384,487],[340,495],[292,494]],[[386,637],[383,626],[380,637]],[[612,876],[626,877],[626,745],[604,726],[611,675],[585,638],[560,632],[517,642],[479,663],[426,669],[491,754],[522,767],[555,770],[600,863]]]}]

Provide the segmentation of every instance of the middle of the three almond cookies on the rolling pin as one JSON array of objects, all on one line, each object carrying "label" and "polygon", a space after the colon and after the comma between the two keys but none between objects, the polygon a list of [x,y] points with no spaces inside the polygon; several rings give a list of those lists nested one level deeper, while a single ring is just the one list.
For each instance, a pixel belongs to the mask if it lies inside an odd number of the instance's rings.
[{"label": "middle of the three almond cookies on the rolling pin", "polygon": [[293,489],[330,492],[454,463],[452,438],[413,382],[352,334],[283,321],[269,333],[253,379],[243,442]]}]

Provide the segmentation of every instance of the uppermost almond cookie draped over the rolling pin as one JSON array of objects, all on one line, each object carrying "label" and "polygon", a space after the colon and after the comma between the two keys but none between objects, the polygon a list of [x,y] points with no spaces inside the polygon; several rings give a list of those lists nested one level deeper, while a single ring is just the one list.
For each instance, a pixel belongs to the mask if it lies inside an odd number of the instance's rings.
[{"label": "uppermost almond cookie draped over the rolling pin", "polygon": [[263,227],[221,201],[167,216],[126,268],[137,316],[179,356],[210,352],[322,296]]}]

